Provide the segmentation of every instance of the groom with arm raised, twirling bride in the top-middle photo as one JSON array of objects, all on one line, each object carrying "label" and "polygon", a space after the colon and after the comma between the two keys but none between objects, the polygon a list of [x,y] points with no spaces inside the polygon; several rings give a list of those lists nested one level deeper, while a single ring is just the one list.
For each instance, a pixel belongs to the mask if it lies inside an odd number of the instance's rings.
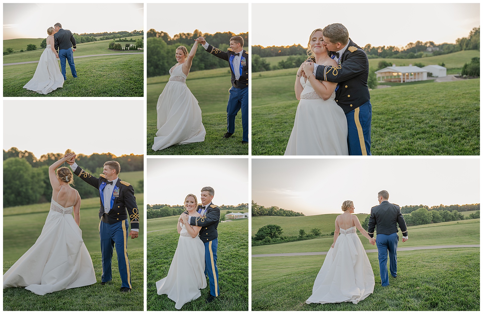
[{"label": "groom with arm raised, twirling bride in the top-middle photo", "polygon": [[224,138],[229,138],[235,132],[235,116],[241,109],[241,126],[243,127],[242,144],[248,144],[248,52],[243,50],[243,37],[230,38],[228,51],[221,51],[207,43],[203,37],[198,37],[206,51],[215,57],[227,60],[231,71],[230,97],[227,104],[227,132]]}]

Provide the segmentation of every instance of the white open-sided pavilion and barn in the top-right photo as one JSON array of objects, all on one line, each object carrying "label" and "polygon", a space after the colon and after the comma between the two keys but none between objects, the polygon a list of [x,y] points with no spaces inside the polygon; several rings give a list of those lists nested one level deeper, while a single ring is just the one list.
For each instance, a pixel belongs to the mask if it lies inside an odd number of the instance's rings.
[{"label": "white open-sided pavilion and barn in the top-right photo", "polygon": [[[427,67],[439,67],[438,65],[429,65]],[[420,68],[410,64],[409,66],[397,67],[393,64],[392,67],[386,67],[384,69],[376,71],[376,78],[379,83],[384,82],[415,82],[426,81],[427,73],[432,71],[426,70],[427,67]],[[441,67],[443,68],[443,67]],[[434,75],[433,75],[434,76]],[[446,76],[446,68],[444,68],[444,76]]]}]

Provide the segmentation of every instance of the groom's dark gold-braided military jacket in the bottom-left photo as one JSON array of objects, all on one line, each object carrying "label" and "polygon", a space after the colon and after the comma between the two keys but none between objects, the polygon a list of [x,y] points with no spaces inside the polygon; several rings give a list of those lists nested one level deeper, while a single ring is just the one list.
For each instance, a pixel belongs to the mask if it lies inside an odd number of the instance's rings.
[{"label": "groom's dark gold-braided military jacket in the bottom-left photo", "polygon": [[[108,180],[104,179],[104,174],[100,174],[100,177],[96,178],[79,166],[75,169],[74,174],[99,190],[100,220],[108,224],[115,224],[128,219],[131,222],[131,229],[139,229],[138,205],[134,196],[134,188],[128,182],[121,181],[119,178],[114,186],[111,200],[104,200],[104,193],[101,192],[101,188],[108,182]],[[104,201],[111,201],[109,213],[104,213]]]}]

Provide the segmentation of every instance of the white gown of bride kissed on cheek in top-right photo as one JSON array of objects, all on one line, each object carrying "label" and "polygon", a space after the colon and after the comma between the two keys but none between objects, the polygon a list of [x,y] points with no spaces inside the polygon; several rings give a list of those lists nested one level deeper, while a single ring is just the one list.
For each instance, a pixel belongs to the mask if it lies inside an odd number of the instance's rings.
[{"label": "white gown of bride kissed on cheek in top-right photo", "polygon": [[300,84],[303,91],[284,155],[349,155],[347,120],[334,101],[335,91],[323,100],[303,76]]}]

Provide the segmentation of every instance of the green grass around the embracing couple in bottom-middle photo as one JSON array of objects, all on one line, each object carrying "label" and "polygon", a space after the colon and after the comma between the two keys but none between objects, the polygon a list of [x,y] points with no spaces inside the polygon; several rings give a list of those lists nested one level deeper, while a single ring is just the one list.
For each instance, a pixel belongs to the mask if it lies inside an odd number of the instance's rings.
[{"label": "green grass around the embracing couple in bottom-middle photo", "polygon": [[[156,281],[166,277],[179,234],[178,216],[149,219],[147,223],[147,310],[175,311],[167,295],[158,295]],[[154,229],[153,229],[154,227]],[[166,227],[166,228],[164,228]],[[248,311],[248,219],[220,223],[218,226],[218,275],[220,296],[206,304],[209,285],[201,297],[186,303],[185,311]]]}]

